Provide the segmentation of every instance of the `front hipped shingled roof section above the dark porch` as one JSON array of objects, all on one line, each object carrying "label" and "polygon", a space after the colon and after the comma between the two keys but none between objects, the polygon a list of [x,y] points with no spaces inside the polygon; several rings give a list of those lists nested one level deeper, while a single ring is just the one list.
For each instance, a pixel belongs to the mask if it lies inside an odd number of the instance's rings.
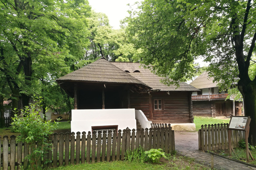
[{"label": "front hipped shingled roof section above the dark porch", "polygon": [[57,82],[61,81],[130,83],[143,84],[146,86],[145,83],[119,69],[117,66],[111,64],[106,60],[106,58],[103,57],[89,65],[82,67],[81,69],[57,79]]}]

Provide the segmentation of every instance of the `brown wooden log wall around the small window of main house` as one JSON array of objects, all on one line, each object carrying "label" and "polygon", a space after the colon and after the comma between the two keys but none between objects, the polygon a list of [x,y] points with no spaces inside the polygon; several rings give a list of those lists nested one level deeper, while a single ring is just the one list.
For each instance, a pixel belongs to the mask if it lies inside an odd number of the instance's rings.
[{"label": "brown wooden log wall around the small window of main house", "polygon": [[[160,91],[151,93],[151,111],[153,118],[150,119],[149,94],[131,94],[131,108],[141,110],[149,121],[153,123],[191,123],[191,109],[189,108],[189,92]],[[162,110],[154,110],[154,100],[162,100]]]}]

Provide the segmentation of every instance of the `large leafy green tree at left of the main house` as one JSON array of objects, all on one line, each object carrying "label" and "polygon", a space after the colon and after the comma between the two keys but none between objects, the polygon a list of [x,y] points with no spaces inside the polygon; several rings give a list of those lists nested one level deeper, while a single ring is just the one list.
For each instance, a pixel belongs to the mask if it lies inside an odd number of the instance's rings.
[{"label": "large leafy green tree at left of the main house", "polygon": [[39,79],[66,67],[73,70],[84,57],[90,6],[86,0],[3,0],[0,7],[0,70],[12,91],[13,107],[20,96],[28,106],[31,94],[40,91]]}]

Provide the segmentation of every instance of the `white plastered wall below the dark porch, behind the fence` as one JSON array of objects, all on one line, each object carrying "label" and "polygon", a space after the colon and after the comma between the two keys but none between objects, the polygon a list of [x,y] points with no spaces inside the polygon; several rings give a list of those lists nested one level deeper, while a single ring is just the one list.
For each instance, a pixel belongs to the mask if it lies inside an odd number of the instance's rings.
[{"label": "white plastered wall below the dark porch, behind the fence", "polygon": [[72,110],[71,132],[92,131],[92,126],[118,125],[118,130],[136,129],[135,109]]}]

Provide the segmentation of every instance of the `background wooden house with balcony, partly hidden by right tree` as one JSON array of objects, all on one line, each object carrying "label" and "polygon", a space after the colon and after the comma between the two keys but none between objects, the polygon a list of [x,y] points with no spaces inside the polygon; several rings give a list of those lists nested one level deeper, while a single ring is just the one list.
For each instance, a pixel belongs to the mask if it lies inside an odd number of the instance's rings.
[{"label": "background wooden house with balcony, partly hidden by right tree", "polygon": [[242,114],[242,102],[227,99],[228,93],[220,91],[207,72],[203,72],[191,86],[201,90],[193,92],[193,114],[197,116],[230,116]]}]

